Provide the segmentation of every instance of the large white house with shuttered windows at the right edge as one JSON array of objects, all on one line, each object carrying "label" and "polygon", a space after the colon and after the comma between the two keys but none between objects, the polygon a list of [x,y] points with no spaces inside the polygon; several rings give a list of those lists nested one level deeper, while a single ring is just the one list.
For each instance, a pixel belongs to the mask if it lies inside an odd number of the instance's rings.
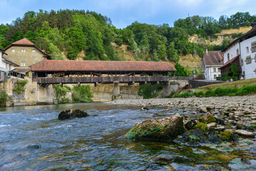
[{"label": "large white house with shuttered windows at the right edge", "polygon": [[222,75],[232,76],[231,66],[237,66],[237,73],[245,79],[256,78],[256,23],[252,29],[240,38],[232,41],[223,51],[224,65],[220,67]]}]

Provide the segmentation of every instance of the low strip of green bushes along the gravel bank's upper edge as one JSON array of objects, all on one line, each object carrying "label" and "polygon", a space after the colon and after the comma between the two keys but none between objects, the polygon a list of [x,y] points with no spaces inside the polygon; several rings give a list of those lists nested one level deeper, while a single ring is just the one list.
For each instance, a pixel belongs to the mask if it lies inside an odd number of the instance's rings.
[{"label": "low strip of green bushes along the gravel bank's upper edge", "polygon": [[247,95],[256,93],[256,85],[253,86],[244,86],[243,88],[217,88],[215,90],[207,90],[205,93],[199,91],[190,94],[185,92],[183,94],[174,95],[173,98],[188,98],[188,97],[210,97],[210,96],[223,96],[223,95]]}]

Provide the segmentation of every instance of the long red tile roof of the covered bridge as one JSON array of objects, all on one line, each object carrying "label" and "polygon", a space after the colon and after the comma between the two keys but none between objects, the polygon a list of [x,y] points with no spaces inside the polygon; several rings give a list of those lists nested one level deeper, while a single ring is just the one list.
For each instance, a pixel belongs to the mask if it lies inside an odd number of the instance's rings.
[{"label": "long red tile roof of the covered bridge", "polygon": [[61,61],[43,60],[31,66],[31,71],[163,71],[172,72],[176,69],[167,62],[145,61]]}]

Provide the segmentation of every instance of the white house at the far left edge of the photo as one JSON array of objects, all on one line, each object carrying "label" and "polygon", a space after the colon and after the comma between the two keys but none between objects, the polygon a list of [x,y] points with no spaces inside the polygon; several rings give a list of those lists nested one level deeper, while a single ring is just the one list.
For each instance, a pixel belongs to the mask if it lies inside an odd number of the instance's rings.
[{"label": "white house at the far left edge of the photo", "polygon": [[3,55],[7,55],[3,49],[0,48],[0,81],[5,78],[6,76],[9,76],[9,73],[11,70],[13,70],[15,67],[19,67],[16,63],[13,63],[6,58],[3,57]]}]

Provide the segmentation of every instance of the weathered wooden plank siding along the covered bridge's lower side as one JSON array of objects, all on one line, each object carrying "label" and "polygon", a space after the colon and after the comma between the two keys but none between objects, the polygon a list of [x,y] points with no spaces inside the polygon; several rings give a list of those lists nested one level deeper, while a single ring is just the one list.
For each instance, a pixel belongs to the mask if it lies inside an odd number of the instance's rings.
[{"label": "weathered wooden plank siding along the covered bridge's lower side", "polygon": [[58,84],[58,83],[143,83],[143,82],[165,82],[173,79],[173,76],[111,76],[111,77],[55,77],[55,78],[33,78],[37,83]]}]

